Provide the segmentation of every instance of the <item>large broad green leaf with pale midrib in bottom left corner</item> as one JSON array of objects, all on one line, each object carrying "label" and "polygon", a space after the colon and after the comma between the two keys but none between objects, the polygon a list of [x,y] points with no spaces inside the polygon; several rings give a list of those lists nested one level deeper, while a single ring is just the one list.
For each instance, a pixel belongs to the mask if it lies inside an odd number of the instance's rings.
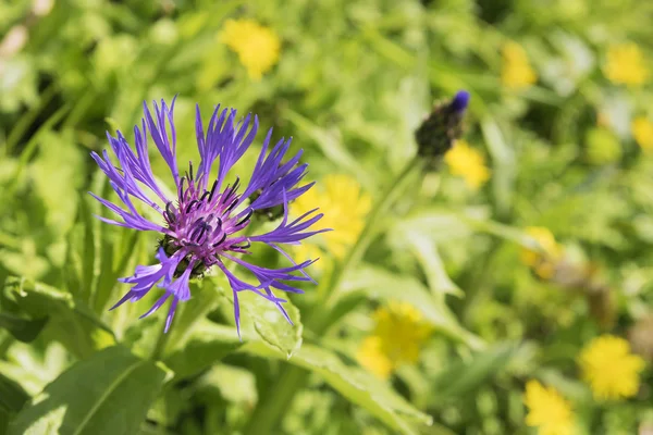
[{"label": "large broad green leaf with pale midrib in bottom left corner", "polygon": [[10,435],[135,434],[168,376],[161,364],[116,346],[77,362],[10,425]]}]

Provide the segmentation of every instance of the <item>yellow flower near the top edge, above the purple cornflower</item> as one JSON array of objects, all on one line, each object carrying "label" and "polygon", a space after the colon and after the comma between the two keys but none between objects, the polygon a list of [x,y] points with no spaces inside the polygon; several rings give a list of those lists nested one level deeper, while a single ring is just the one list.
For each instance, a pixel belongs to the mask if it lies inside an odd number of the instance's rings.
[{"label": "yellow flower near the top edge, above the purple cornflower", "polygon": [[279,60],[279,36],[252,20],[227,20],[219,37],[238,54],[251,79],[259,80]]}]

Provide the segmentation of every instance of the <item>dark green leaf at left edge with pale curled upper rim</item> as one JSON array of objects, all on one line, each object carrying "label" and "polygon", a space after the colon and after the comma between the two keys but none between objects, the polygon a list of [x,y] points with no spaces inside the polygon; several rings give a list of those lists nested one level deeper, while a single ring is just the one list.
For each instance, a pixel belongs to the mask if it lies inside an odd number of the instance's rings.
[{"label": "dark green leaf at left edge with pale curled upper rim", "polygon": [[49,318],[44,333],[78,358],[115,343],[113,333],[72,295],[30,279],[9,277],[0,295],[0,310],[32,320]]}]

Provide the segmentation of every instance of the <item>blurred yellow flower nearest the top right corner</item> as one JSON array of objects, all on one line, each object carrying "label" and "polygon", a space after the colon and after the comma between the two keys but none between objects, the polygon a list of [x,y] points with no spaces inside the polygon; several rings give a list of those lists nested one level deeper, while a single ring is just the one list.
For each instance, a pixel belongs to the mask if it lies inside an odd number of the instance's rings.
[{"label": "blurred yellow flower nearest the top right corner", "polygon": [[644,59],[637,44],[611,46],[603,74],[615,84],[641,85],[649,76]]}]

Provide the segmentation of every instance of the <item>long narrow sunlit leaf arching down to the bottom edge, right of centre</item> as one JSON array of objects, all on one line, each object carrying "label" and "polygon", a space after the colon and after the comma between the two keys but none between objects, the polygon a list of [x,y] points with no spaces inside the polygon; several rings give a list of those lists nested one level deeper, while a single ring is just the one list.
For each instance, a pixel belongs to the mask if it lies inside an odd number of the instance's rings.
[{"label": "long narrow sunlit leaf arching down to the bottom edge, right of centre", "polygon": [[[286,359],[283,352],[261,341],[250,341],[243,350],[263,358]],[[321,375],[340,394],[368,410],[397,433],[417,434],[412,423],[432,423],[430,415],[415,409],[390,386],[360,369],[345,365],[336,355],[328,350],[304,345],[287,362]]]}]

